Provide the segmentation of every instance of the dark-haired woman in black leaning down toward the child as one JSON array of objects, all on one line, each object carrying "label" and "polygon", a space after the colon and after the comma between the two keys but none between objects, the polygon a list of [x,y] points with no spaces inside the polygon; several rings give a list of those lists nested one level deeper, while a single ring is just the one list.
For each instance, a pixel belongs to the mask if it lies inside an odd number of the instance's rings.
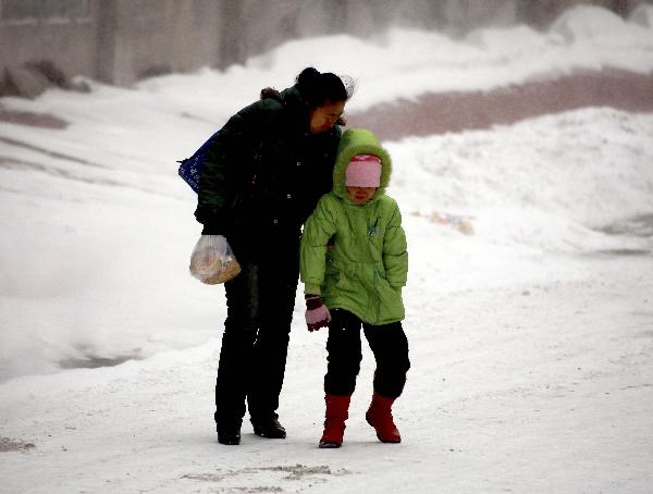
[{"label": "dark-haired woman in black leaning down toward the child", "polygon": [[281,92],[233,115],[215,134],[199,181],[202,235],[222,235],[242,272],[225,283],[215,382],[218,441],[239,444],[245,402],[254,432],[284,439],[276,409],[299,276],[301,224],[332,187],[338,122],[350,92],[305,69]]}]

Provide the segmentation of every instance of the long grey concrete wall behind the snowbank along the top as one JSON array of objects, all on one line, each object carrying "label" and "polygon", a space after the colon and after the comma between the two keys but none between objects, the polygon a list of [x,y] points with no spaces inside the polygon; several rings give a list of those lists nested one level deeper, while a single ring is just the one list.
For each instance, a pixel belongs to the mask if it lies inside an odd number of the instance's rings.
[{"label": "long grey concrete wall behind the snowbank along the top", "polygon": [[[452,36],[516,22],[545,27],[581,2],[626,15],[652,1],[0,0],[0,96],[33,96],[54,76],[130,85],[167,72],[225,67],[294,38],[368,37],[390,25]],[[42,61],[46,69],[26,67]]]}]

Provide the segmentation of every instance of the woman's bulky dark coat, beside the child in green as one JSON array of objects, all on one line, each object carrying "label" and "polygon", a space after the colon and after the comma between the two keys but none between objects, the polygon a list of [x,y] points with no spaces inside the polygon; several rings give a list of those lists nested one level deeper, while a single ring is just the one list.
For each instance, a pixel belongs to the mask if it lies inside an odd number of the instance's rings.
[{"label": "woman's bulky dark coat, beside the child in green", "polygon": [[224,235],[236,257],[284,237],[295,244],[331,190],[341,136],[337,126],[315,135],[309,128],[296,86],[233,115],[213,137],[201,171],[195,217],[202,234]]}]

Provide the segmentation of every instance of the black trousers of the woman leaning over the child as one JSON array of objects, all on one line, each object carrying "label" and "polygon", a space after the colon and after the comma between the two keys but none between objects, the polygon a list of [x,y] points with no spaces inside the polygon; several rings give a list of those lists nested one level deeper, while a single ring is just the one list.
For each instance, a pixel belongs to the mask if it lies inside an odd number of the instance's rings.
[{"label": "black trousers of the woman leaning over the child", "polygon": [[[215,381],[215,422],[239,425],[246,405],[252,421],[276,418],[299,276],[297,243],[259,239],[266,251],[239,259],[224,284],[226,320]],[[291,245],[288,245],[291,244]]]}]

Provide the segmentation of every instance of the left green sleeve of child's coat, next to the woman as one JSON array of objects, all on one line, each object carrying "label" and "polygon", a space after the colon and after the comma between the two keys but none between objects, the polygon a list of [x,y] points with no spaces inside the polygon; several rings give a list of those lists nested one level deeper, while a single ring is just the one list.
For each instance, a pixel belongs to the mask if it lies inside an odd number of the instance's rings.
[{"label": "left green sleeve of child's coat, next to the woman", "polygon": [[324,282],[326,244],[335,233],[334,199],[322,196],[316,210],[306,221],[299,248],[299,273],[304,292],[320,295]]}]

